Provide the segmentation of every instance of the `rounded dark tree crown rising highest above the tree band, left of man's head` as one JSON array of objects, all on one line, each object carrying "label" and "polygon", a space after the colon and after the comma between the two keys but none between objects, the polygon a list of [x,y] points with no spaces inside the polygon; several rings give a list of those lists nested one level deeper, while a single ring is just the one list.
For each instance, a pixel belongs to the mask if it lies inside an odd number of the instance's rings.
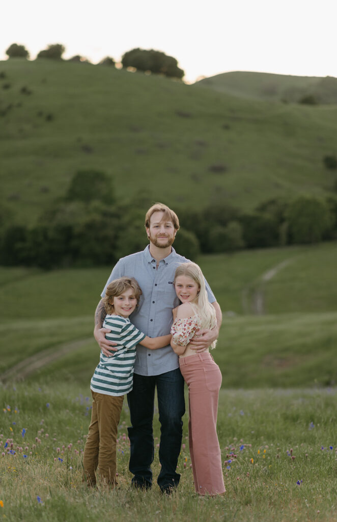
[{"label": "rounded dark tree crown rising highest above the tree band, left of man's head", "polygon": [[97,170],[80,170],[71,178],[66,199],[83,203],[98,200],[112,205],[115,197],[111,177]]}]

